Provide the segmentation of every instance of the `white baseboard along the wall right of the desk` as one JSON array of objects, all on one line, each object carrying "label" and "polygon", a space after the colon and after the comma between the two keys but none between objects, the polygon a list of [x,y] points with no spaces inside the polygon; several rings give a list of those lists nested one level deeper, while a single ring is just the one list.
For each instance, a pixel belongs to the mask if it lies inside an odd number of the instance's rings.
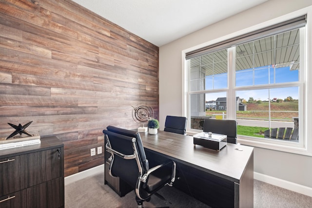
[{"label": "white baseboard along the wall right of the desk", "polygon": [[254,172],[254,179],[312,197],[312,188]]}]

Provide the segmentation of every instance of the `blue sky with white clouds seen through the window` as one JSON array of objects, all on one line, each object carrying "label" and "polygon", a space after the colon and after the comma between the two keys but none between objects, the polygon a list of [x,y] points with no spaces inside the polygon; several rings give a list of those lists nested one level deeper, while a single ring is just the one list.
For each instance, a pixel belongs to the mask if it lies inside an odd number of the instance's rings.
[{"label": "blue sky with white clouds seen through the window", "polygon": [[[290,70],[290,67],[259,67],[255,69],[241,70],[236,73],[236,86],[253,86],[269,83],[285,83],[298,81],[298,70]],[[254,77],[254,78],[253,78]],[[269,78],[270,77],[270,78]],[[219,74],[215,76],[206,76],[205,89],[223,89],[227,86],[227,74]],[[274,97],[285,99],[292,96],[293,99],[298,99],[298,87],[276,88],[270,90],[270,99]],[[206,94],[206,100],[216,100],[218,97],[225,97],[225,93]],[[268,100],[269,90],[249,90],[238,91],[236,96],[246,100],[253,97],[255,100]]]}]

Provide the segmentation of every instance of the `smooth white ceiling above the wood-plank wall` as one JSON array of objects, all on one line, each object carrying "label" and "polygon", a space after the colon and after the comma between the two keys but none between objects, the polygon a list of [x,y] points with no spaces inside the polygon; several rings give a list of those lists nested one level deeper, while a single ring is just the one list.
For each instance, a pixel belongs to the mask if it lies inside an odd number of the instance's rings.
[{"label": "smooth white ceiling above the wood-plank wall", "polygon": [[73,0],[160,47],[267,0]]}]

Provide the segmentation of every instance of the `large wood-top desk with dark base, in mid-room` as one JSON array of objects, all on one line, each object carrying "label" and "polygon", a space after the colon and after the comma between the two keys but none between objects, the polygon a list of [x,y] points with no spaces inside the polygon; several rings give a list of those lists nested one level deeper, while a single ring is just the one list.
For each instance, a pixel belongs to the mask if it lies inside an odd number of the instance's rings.
[{"label": "large wood-top desk with dark base, in mid-room", "polygon": [[194,146],[193,136],[162,131],[140,136],[150,167],[176,162],[177,189],[211,207],[254,206],[254,148],[228,143],[214,151]]}]

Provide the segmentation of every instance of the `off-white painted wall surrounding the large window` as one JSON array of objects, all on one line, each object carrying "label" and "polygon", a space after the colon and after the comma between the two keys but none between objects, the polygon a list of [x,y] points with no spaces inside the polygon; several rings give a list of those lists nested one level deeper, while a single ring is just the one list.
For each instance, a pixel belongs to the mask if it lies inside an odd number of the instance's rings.
[{"label": "off-white painted wall surrounding the large window", "polygon": [[[244,30],[312,5],[312,0],[269,0],[231,18],[159,48],[159,123],[166,115],[182,115],[183,50]],[[187,15],[187,11],[185,11]],[[309,129],[308,131],[312,131]],[[311,135],[311,133],[309,133]],[[312,157],[262,148],[254,149],[254,171],[312,188]]]}]

